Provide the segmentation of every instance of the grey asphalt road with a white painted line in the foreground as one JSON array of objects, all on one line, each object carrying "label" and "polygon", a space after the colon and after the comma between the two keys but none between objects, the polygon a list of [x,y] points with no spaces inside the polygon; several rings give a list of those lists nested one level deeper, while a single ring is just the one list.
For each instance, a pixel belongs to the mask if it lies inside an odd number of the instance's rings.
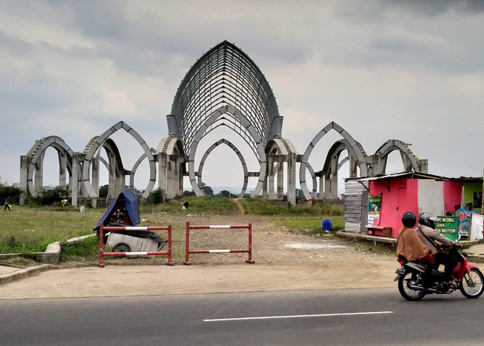
[{"label": "grey asphalt road with a white painted line in the foreground", "polygon": [[395,289],[3,300],[0,345],[478,345],[483,308]]}]

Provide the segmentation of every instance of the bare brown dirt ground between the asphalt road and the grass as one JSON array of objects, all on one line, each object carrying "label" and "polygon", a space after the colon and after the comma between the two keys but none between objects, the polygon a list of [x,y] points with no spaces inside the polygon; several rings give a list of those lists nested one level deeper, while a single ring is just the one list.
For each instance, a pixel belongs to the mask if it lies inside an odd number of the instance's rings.
[{"label": "bare brown dirt ground between the asphalt road and the grass", "polygon": [[[252,224],[255,264],[245,263],[247,253],[210,253],[190,255],[192,265],[183,265],[185,221],[192,225]],[[174,266],[165,265],[165,256],[105,257],[104,268],[68,262],[57,266],[58,270],[3,284],[0,299],[395,287],[398,262],[393,249],[355,244],[333,234],[304,235],[273,226],[272,221],[253,215],[159,215],[149,224],[173,226]],[[192,230],[190,237],[191,249],[248,248],[245,229]]]}]

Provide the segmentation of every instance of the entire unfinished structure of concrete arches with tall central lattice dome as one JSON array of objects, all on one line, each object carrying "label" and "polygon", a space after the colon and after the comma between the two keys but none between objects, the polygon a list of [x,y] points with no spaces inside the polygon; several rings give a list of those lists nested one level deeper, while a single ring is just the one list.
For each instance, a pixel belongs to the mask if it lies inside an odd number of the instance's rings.
[{"label": "entire unfinished structure of concrete arches with tall central lattice dome", "polygon": [[[97,205],[100,165],[104,165],[109,174],[108,200],[114,199],[124,188],[134,191],[136,171],[145,160],[149,163],[149,180],[140,199],[146,199],[153,188],[158,187],[165,191],[166,199],[182,195],[184,176],[189,177],[195,194],[203,196],[203,165],[218,145],[232,149],[243,167],[239,197],[245,194],[248,179],[254,177],[257,185],[252,191],[253,197],[283,199],[285,186],[289,206],[296,203],[297,165],[304,197],[319,196],[324,200],[337,199],[338,171],[347,161],[351,178],[384,174],[389,154],[398,151],[404,171],[427,172],[427,160],[418,158],[410,144],[387,140],[375,154],[366,154],[362,145],[336,122],[330,122],[317,132],[304,153],[297,152],[289,138],[282,136],[283,116],[279,113],[268,80],[248,55],[226,41],[207,51],[189,69],[176,91],[167,125],[169,133],[160,140],[156,149],[149,147],[142,136],[124,121],[93,137],[82,152],[74,152],[58,136],[36,140],[28,153],[20,158],[21,188],[32,197],[41,193],[44,155],[50,147],[57,151],[59,158],[59,186],[68,185],[73,206],[86,200],[91,201],[93,206]],[[232,136],[238,136],[247,143],[259,161],[258,171],[248,170],[240,148],[233,144],[234,140],[231,141],[232,137],[217,140],[206,150],[201,161],[196,162],[199,143],[218,127],[230,129]],[[133,167],[124,167],[122,153],[111,138],[116,131],[122,130],[142,148],[142,154]],[[330,131],[336,131],[341,139],[328,150],[323,167],[312,167],[310,154]],[[100,155],[102,151],[107,160]],[[312,179],[311,189],[306,183],[306,175]],[[21,203],[24,203],[24,198],[25,195]]]}]

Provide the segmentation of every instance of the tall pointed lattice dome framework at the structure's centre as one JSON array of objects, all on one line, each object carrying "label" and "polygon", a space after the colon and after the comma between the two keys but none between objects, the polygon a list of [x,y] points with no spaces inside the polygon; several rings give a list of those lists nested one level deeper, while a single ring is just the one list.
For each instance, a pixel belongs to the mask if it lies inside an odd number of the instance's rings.
[{"label": "tall pointed lattice dome framework at the structure's centre", "polygon": [[[167,120],[169,135],[179,138],[188,154],[187,170],[196,195],[203,196],[200,173],[195,171],[198,144],[222,126],[252,149],[259,172],[244,172],[244,181],[259,176],[252,195],[261,192],[267,171],[264,148],[281,135],[283,117],[265,76],[241,49],[224,41],[205,53],[178,87]],[[169,191],[167,197],[176,193]]]}]

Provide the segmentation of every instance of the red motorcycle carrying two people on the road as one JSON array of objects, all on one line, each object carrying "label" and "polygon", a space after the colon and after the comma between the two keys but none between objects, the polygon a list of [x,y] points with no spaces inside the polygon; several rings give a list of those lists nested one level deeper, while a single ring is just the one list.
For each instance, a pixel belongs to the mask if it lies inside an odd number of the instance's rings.
[{"label": "red motorcycle carrying two people on the road", "polygon": [[398,291],[406,300],[421,300],[427,294],[450,294],[457,289],[466,298],[478,298],[484,291],[484,275],[477,266],[467,262],[467,254],[460,253],[455,247],[451,246],[449,255],[457,260],[457,264],[452,271],[452,284],[443,284],[443,272],[436,268],[432,271],[429,287],[423,286],[426,264],[408,262],[402,257],[398,262],[402,265],[395,273],[397,277],[393,282],[398,281]]}]

